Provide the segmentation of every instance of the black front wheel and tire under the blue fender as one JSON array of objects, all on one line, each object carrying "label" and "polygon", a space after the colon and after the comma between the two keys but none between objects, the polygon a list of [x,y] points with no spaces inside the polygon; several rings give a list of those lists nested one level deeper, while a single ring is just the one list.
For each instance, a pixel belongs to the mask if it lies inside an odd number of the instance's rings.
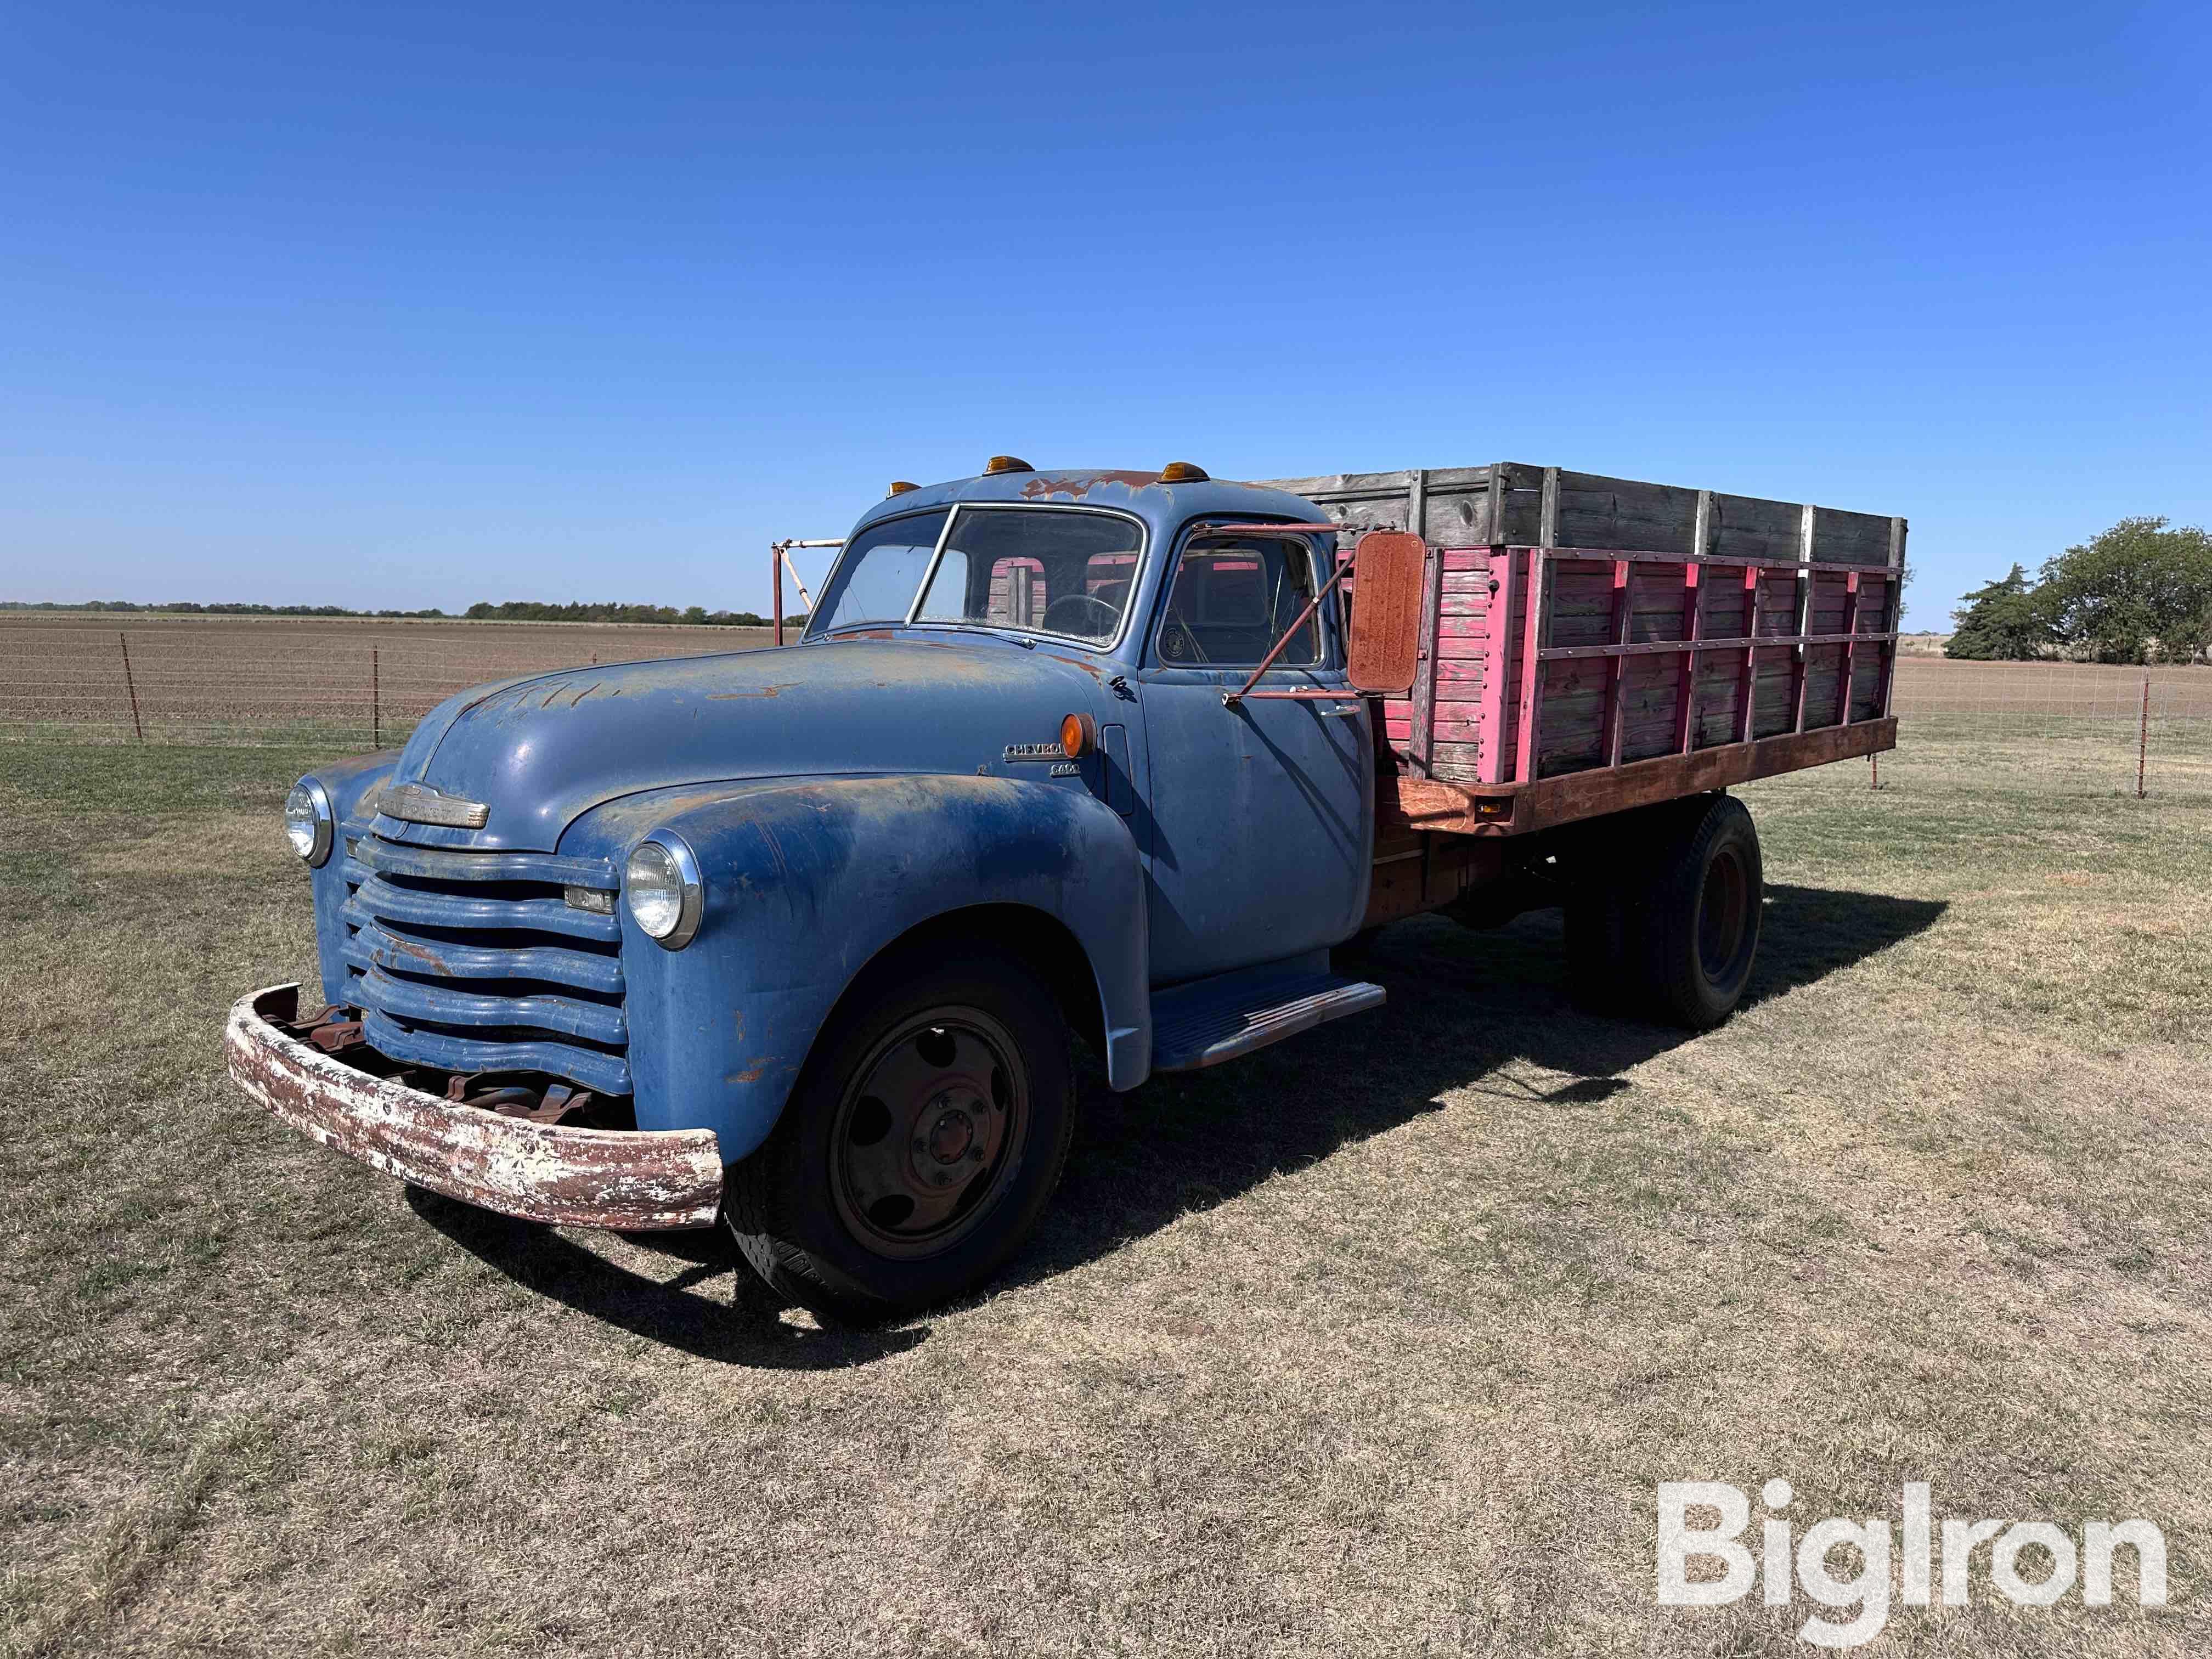
[{"label": "black front wheel and tire under the blue fender", "polygon": [[995,951],[907,953],[847,993],[723,1219],[785,1301],[878,1323],[989,1279],[1075,1135],[1068,1026]]}]

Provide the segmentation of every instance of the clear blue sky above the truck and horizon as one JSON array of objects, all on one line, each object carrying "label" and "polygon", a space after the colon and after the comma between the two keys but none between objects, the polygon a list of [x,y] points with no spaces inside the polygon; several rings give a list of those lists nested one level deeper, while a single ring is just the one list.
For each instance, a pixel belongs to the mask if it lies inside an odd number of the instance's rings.
[{"label": "clear blue sky above the truck and horizon", "polygon": [[2201,7],[80,2],[0,40],[0,597],[765,606],[1013,451],[2212,520]]}]

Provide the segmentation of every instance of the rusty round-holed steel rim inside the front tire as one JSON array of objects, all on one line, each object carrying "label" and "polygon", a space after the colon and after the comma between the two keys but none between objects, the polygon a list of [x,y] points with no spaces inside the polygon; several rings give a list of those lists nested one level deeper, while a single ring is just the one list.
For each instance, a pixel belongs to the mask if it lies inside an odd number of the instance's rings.
[{"label": "rusty round-holed steel rim inside the front tire", "polygon": [[982,1009],[931,1009],[854,1068],[832,1124],[838,1219],[885,1256],[949,1250],[998,1199],[1029,1130],[1029,1075]]}]

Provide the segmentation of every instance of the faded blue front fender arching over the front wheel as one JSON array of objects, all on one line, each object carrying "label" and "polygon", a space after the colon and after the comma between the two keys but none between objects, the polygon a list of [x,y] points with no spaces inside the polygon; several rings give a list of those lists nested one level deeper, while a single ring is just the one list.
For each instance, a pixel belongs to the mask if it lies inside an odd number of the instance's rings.
[{"label": "faded blue front fender arching over the front wheel", "polygon": [[[639,1128],[712,1128],[737,1161],[774,1128],[854,978],[933,918],[1040,911],[1091,964],[1106,1075],[1152,1064],[1144,869],[1128,825],[1075,787],[1004,776],[781,779],[639,796],[588,814],[617,860],[646,834],[699,860],[703,914],[679,951],[624,907]],[[566,841],[566,838],[564,838]]]}]

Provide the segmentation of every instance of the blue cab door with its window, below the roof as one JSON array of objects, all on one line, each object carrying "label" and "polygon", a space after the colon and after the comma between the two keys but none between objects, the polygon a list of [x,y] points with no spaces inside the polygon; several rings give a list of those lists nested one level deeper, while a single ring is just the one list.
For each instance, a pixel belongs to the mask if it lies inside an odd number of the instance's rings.
[{"label": "blue cab door with its window, below the roof", "polygon": [[[1374,754],[1345,681],[1334,599],[1312,538],[1183,538],[1144,648],[1152,982],[1221,973],[1349,938],[1367,909]],[[1334,692],[1334,695],[1329,695]]]}]

